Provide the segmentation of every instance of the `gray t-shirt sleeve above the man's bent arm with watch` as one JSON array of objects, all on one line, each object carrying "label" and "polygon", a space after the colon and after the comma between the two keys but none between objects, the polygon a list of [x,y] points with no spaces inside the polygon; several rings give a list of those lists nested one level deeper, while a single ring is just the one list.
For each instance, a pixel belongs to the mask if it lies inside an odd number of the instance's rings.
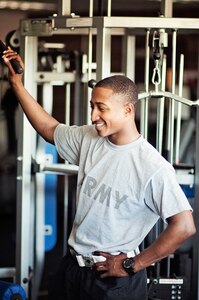
[{"label": "gray t-shirt sleeve above the man's bent arm with watch", "polygon": [[182,211],[192,211],[172,168],[161,168],[149,180],[145,190],[145,202],[164,222]]}]

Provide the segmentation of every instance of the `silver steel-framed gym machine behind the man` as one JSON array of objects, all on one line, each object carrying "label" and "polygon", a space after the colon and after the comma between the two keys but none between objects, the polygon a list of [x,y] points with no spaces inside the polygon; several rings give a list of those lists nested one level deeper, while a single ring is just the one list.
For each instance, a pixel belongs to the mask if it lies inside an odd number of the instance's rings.
[{"label": "silver steel-framed gym machine behind the man", "polygon": [[[176,55],[177,55],[177,34],[198,34],[199,20],[190,18],[171,18],[172,1],[162,1],[164,16],[157,18],[140,17],[113,17],[111,16],[111,1],[107,4],[107,16],[93,16],[93,1],[90,1],[89,16],[80,17],[71,14],[69,1],[60,1],[58,15],[45,19],[22,20],[20,24],[21,55],[25,62],[24,85],[27,90],[38,99],[38,87],[42,90],[42,105],[52,113],[54,97],[53,89],[62,86],[65,93],[65,120],[67,124],[81,124],[83,121],[90,122],[89,99],[91,89],[88,82],[91,79],[96,81],[113,74],[111,65],[111,41],[113,36],[119,36],[122,40],[121,74],[125,74],[136,82],[136,39],[138,36],[145,36],[145,74],[143,92],[139,93],[140,100],[140,132],[148,139],[150,132],[150,109],[151,104],[156,105],[156,142],[155,146],[161,154],[176,168],[179,183],[183,186],[194,187],[194,214],[196,226],[198,224],[198,193],[199,193],[199,166],[195,158],[194,166],[181,165],[181,126],[182,111],[184,106],[188,111],[195,111],[195,153],[199,149],[198,135],[198,100],[189,100],[183,97],[183,69],[184,56],[180,55],[179,66],[179,90],[176,92]],[[81,48],[84,54],[81,56],[81,68],[67,70],[66,61],[63,58],[63,51],[56,55],[53,61],[53,69],[45,70],[39,65],[39,42],[42,39],[48,40],[53,37],[78,37],[81,41]],[[152,38],[151,38],[152,37]],[[170,41],[169,41],[170,38]],[[63,42],[63,38],[60,38]],[[95,42],[95,47],[93,43]],[[150,41],[152,40],[152,43]],[[54,48],[62,47],[57,43]],[[49,45],[48,50],[52,45]],[[94,53],[94,48],[96,52]],[[165,48],[171,49],[172,60],[172,83],[171,91],[166,90],[167,77],[167,55]],[[152,76],[151,70],[151,49],[153,52]],[[77,53],[76,53],[77,54]],[[93,62],[93,57],[96,61]],[[45,60],[50,60],[50,55]],[[185,58],[186,59],[186,58]],[[49,62],[48,60],[48,62]],[[150,82],[152,81],[152,84]],[[76,85],[78,83],[78,86]],[[76,95],[86,99],[82,102]],[[55,95],[56,98],[56,95]],[[73,106],[74,115],[70,113]],[[165,109],[167,115],[165,115]],[[84,116],[83,116],[84,115]],[[85,117],[86,115],[86,117]],[[44,258],[45,258],[45,233],[50,234],[54,229],[45,225],[45,176],[49,174],[64,175],[64,214],[66,223],[64,231],[64,242],[67,237],[67,213],[68,213],[68,189],[69,176],[77,174],[77,166],[64,163],[57,163],[54,154],[46,153],[46,143],[37,136],[32,129],[25,115],[20,111],[20,126],[18,138],[18,172],[17,172],[17,253],[16,282],[19,283],[28,295],[28,299],[36,300],[39,285],[41,282]],[[72,120],[71,120],[72,119]],[[166,126],[165,126],[165,120]],[[166,138],[165,138],[166,135]],[[186,141],[185,141],[186,144]],[[186,147],[186,145],[185,145]],[[163,150],[166,152],[163,153]],[[48,174],[48,175],[46,175]],[[161,224],[155,228],[158,234]],[[191,299],[199,299],[199,245],[198,233],[194,237],[192,246],[192,267]],[[64,245],[63,253],[66,251]],[[174,254],[175,255],[175,254]],[[157,299],[158,295],[167,295],[167,299],[186,299],[184,292],[183,278],[171,278],[170,268],[172,257],[167,258],[165,278],[149,278],[149,299]],[[159,272],[157,271],[157,274]],[[151,284],[152,283],[152,284]],[[162,287],[167,287],[163,291]],[[154,290],[154,287],[156,289]],[[177,292],[176,292],[177,291]],[[180,291],[183,291],[180,294]],[[180,296],[181,295],[181,296]],[[156,297],[156,298],[155,298]],[[173,298],[172,298],[173,297]],[[176,297],[176,298],[175,298]],[[181,298],[177,298],[181,297]],[[184,297],[184,298],[183,298]],[[159,296],[161,298],[161,296]]]}]

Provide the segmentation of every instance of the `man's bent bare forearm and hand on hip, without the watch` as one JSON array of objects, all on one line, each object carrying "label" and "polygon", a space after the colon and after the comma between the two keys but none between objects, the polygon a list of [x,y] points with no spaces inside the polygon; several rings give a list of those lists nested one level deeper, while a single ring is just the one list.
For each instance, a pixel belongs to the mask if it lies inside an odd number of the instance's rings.
[{"label": "man's bent bare forearm and hand on hip, without the watch", "polygon": [[[156,241],[134,257],[135,272],[138,272],[153,263],[167,257],[173,253],[179,246],[192,236],[195,232],[195,225],[191,211],[183,211],[169,218],[167,228],[159,235]],[[122,262],[126,254],[111,255],[104,252],[98,252],[106,258],[105,262],[98,262],[94,268],[98,272],[103,272],[100,277],[109,276],[123,277],[128,274],[122,267]]]}]

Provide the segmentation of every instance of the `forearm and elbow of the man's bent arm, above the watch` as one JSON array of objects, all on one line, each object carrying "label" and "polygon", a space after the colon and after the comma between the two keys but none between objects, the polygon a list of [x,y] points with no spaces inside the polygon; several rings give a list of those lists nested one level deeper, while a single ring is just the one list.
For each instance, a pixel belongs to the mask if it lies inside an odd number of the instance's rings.
[{"label": "forearm and elbow of the man's bent arm, above the watch", "polygon": [[183,211],[168,219],[167,228],[156,241],[135,257],[137,272],[167,257],[196,232],[191,211]]}]

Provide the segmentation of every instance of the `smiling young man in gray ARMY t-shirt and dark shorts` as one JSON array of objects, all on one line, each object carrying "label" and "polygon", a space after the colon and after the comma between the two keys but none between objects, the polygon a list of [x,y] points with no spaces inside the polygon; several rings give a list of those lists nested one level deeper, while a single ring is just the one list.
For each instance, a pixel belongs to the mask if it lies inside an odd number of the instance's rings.
[{"label": "smiling young man in gray ARMY t-shirt and dark shorts", "polygon": [[[192,209],[173,167],[140,136],[135,84],[125,76],[98,82],[91,98],[93,125],[66,126],[29,95],[10,59],[9,81],[29,121],[62,158],[79,166],[77,211],[70,253],[56,274],[52,299],[145,300],[145,268],[195,233]],[[162,218],[166,229],[147,249],[138,246]]]}]

